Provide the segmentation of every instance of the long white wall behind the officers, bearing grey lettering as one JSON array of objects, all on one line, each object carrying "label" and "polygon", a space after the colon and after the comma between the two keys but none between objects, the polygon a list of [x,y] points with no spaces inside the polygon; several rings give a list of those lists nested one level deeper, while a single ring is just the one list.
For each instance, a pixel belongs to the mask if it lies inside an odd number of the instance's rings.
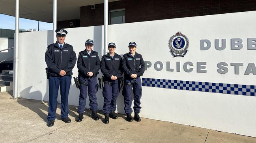
[{"label": "long white wall behind the officers, bearing grey lettering", "polygon": [[[137,52],[152,66],[145,71],[144,78],[202,81],[256,85],[253,74],[244,75],[248,63],[256,61],[256,51],[247,50],[247,38],[256,37],[256,11],[243,13],[218,14],[189,18],[176,18],[149,22],[109,25],[108,40],[115,42],[118,54],[127,53],[128,43],[135,41]],[[84,50],[84,42],[91,38],[94,49],[103,53],[103,26],[67,29],[65,42],[73,45],[76,53]],[[184,58],[173,58],[168,41],[178,31],[189,38],[189,52]],[[51,31],[20,33],[19,38],[19,96],[36,100],[48,100],[48,81],[45,75],[44,53],[52,39]],[[215,39],[226,39],[226,49],[217,51]],[[243,39],[243,49],[230,50],[230,39]],[[200,40],[211,41],[211,48],[200,50]],[[153,64],[164,63],[162,71],[156,71]],[[171,63],[174,72],[166,71],[166,62]],[[181,71],[176,72],[176,62],[181,62]],[[185,72],[183,63],[192,62],[194,70]],[[207,62],[207,73],[196,72],[196,62]],[[219,74],[217,63],[228,63],[229,72]],[[244,63],[240,74],[234,74],[231,62]],[[77,76],[77,67],[73,69]],[[101,76],[101,75],[99,75]],[[99,77],[98,76],[98,77]],[[256,137],[256,97],[233,94],[220,94],[157,87],[142,87],[142,110],[145,118],[170,121],[224,132]],[[79,91],[72,81],[69,104],[78,105]],[[58,99],[60,101],[60,97]],[[102,91],[97,93],[99,109],[103,106]],[[123,113],[123,96],[119,95],[117,111]],[[88,100],[87,105],[88,106]]]}]

